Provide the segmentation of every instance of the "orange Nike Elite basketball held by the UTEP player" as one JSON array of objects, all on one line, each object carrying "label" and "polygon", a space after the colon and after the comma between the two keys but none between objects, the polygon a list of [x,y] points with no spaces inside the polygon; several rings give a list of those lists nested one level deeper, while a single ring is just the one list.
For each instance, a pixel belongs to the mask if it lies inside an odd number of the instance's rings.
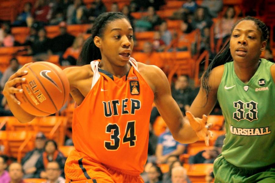
[{"label": "orange Nike Elite basketball held by the UTEP player", "polygon": [[16,93],[20,106],[35,116],[47,116],[60,110],[68,100],[69,81],[57,65],[50,62],[35,62],[23,70],[25,82],[16,84],[23,93]]}]

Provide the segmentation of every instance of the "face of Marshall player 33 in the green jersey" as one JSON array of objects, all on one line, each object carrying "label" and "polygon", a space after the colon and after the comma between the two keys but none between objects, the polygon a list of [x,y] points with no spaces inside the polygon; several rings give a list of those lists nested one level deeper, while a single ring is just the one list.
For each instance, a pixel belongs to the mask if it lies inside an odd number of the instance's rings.
[{"label": "face of Marshall player 33 in the green jersey", "polygon": [[266,41],[252,20],[243,20],[234,28],[230,38],[230,53],[237,62],[258,61]]}]

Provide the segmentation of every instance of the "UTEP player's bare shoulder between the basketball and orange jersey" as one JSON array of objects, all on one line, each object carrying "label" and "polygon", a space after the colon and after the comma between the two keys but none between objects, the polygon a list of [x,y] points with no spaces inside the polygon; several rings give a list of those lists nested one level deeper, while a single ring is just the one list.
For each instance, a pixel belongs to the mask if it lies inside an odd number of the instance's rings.
[{"label": "UTEP player's bare shoulder between the basketball and orange jersey", "polygon": [[73,87],[75,87],[75,85],[82,80],[93,79],[94,76],[90,64],[76,67],[68,67],[65,68],[63,71],[70,82],[70,86]]}]

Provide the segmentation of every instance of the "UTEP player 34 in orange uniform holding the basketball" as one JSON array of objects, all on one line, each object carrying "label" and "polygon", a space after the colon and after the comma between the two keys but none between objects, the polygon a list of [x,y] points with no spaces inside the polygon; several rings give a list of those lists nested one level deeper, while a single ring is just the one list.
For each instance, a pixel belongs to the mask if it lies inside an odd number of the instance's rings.
[{"label": "UTEP player 34 in orange uniform holding the basketball", "polygon": [[[205,137],[208,143],[207,117],[185,121],[166,75],[131,58],[133,45],[129,20],[119,12],[103,13],[82,48],[82,66],[64,70],[78,105],[72,124],[75,150],[64,170],[68,182],[143,182],[140,173],[147,159],[153,101],[175,140],[193,143]],[[17,78],[22,74],[10,78],[4,93],[12,112],[24,123],[35,116],[18,107],[13,96],[20,92],[13,85],[22,81]]]}]

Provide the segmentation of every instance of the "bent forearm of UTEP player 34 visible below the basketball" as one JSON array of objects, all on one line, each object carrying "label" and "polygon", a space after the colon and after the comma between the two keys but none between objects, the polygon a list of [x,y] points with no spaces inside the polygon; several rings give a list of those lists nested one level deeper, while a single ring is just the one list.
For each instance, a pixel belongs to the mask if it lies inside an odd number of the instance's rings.
[{"label": "bent forearm of UTEP player 34 visible below the basketball", "polygon": [[25,112],[20,105],[16,104],[11,97],[5,96],[7,99],[7,102],[9,104],[9,109],[13,113],[14,117],[18,119],[21,123],[27,123],[30,122],[35,118],[34,115],[31,115],[27,112]]}]

